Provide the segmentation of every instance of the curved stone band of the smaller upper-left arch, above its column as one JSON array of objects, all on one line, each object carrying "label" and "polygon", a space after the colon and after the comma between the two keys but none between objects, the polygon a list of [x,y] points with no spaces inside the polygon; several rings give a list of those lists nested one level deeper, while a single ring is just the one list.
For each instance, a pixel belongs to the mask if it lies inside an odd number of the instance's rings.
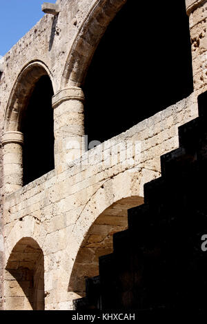
[{"label": "curved stone band of the smaller upper-left arch, above its column", "polygon": [[52,81],[50,70],[41,61],[30,62],[21,70],[8,99],[3,125],[4,133],[21,130],[23,110],[28,104],[35,84],[44,75],[48,75]]}]

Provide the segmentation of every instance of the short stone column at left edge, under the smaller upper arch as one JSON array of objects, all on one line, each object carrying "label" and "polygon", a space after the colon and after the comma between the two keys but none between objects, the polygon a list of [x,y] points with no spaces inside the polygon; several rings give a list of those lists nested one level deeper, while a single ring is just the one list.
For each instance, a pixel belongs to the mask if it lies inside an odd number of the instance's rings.
[{"label": "short stone column at left edge, under the smaller upper arch", "polygon": [[3,134],[3,187],[4,194],[11,194],[23,185],[21,132]]}]

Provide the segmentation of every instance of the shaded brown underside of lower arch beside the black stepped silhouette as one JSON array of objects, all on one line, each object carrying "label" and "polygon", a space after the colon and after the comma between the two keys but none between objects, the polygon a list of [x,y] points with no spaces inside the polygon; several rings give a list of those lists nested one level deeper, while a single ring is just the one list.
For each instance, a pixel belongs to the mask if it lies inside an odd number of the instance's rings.
[{"label": "shaded brown underside of lower arch beside the black stepped silhouette", "polygon": [[85,296],[86,279],[99,274],[99,256],[113,251],[112,236],[128,228],[129,208],[141,205],[144,199],[131,196],[121,199],[102,212],[90,226],[75,259],[68,291]]}]

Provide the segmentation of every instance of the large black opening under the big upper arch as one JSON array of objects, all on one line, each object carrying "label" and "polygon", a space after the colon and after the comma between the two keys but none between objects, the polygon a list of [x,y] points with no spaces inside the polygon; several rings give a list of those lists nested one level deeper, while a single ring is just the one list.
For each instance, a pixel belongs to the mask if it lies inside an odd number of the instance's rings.
[{"label": "large black opening under the big upper arch", "polygon": [[83,91],[89,143],[188,97],[193,72],[185,1],[127,1],[101,38]]}]

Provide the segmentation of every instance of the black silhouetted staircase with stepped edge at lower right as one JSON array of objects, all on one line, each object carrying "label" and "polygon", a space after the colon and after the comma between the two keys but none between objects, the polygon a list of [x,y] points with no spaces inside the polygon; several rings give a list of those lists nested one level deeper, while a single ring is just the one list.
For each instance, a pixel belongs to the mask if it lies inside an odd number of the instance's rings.
[{"label": "black silhouetted staircase with stepped edge at lower right", "polygon": [[199,117],[179,127],[179,148],[161,156],[161,177],[146,183],[144,205],[128,210],[76,310],[205,310],[207,252],[207,93]]}]

